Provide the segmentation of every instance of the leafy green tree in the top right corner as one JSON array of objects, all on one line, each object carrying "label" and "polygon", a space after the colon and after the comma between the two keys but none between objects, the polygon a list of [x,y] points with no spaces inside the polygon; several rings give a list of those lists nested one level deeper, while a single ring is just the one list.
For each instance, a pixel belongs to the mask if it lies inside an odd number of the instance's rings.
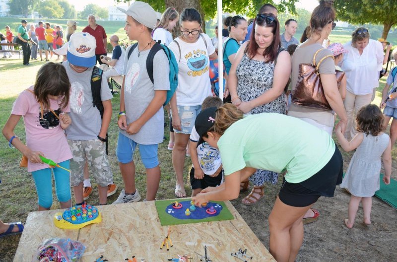
[{"label": "leafy green tree in the top right corner", "polygon": [[335,0],[337,18],[350,23],[383,24],[382,38],[387,38],[390,28],[397,23],[396,0]]}]

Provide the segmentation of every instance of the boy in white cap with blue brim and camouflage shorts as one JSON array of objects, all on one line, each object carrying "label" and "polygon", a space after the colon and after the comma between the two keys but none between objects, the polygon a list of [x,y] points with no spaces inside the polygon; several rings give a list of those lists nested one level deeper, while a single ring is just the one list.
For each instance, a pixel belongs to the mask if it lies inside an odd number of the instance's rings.
[{"label": "boy in white cap with blue brim and camouflage shorts", "polygon": [[[88,160],[98,184],[99,203],[106,204],[108,185],[113,174],[106,155],[106,133],[112,117],[112,93],[102,70],[95,66],[96,41],[89,33],[74,33],[67,47],[66,68],[70,81],[70,118],[73,124],[66,129],[66,138],[72,151],[70,160],[70,185],[73,187],[76,204],[83,200],[83,169]],[[99,82],[100,81],[100,82]],[[99,85],[100,84],[100,85]],[[103,118],[94,103],[91,85],[100,88]]]}]

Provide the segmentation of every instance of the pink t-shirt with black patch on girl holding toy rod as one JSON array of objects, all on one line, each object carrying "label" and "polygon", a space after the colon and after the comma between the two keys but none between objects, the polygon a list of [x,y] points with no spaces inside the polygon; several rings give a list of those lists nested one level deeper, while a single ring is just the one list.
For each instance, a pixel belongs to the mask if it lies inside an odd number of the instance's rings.
[{"label": "pink t-shirt with black patch on girl holding toy rod", "polygon": [[[33,86],[29,87],[33,91]],[[61,100],[60,102],[61,103]],[[51,109],[59,116],[60,113],[70,112],[69,106],[61,109],[58,101],[51,100]],[[40,104],[29,91],[22,91],[12,106],[12,115],[23,116],[26,132],[26,146],[33,151],[40,151],[44,157],[60,163],[72,158],[67,144],[64,130],[59,120],[51,111],[43,112],[41,119]],[[47,164],[34,164],[28,161],[28,172],[48,168]]]}]

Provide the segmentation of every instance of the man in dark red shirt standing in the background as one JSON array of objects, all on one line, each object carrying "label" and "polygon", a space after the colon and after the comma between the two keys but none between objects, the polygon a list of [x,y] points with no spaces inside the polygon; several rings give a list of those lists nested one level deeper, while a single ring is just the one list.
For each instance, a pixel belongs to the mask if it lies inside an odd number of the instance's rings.
[{"label": "man in dark red shirt standing in the background", "polygon": [[107,56],[108,52],[108,36],[106,35],[105,28],[96,23],[95,16],[89,14],[87,17],[88,25],[84,27],[83,32],[89,33],[96,40],[95,57],[99,65],[102,65],[101,56]]}]

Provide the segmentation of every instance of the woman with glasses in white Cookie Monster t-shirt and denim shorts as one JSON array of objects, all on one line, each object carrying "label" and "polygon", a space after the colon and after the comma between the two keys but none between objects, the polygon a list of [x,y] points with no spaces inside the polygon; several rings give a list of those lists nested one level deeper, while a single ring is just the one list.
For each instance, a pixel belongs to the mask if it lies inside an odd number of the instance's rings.
[{"label": "woman with glasses in white Cookie Monster t-shirt and denim shorts", "polygon": [[212,95],[209,60],[218,58],[211,39],[206,34],[200,34],[201,22],[195,8],[185,8],[180,17],[181,36],[168,46],[179,63],[178,88],[170,102],[175,133],[172,164],[177,177],[177,197],[186,196],[183,182],[186,146],[202,101]]}]

